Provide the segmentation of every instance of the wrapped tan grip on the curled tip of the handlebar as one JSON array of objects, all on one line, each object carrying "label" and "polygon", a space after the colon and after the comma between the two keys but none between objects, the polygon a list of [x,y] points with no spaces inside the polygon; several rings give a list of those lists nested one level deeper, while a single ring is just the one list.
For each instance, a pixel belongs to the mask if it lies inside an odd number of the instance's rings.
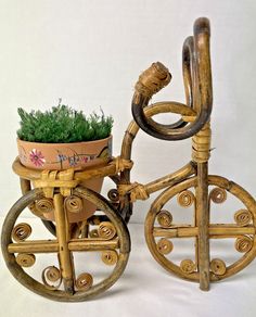
[{"label": "wrapped tan grip on the curled tip of the handlebar", "polygon": [[170,83],[171,75],[161,62],[153,63],[145,69],[136,84],[136,91],[143,97],[151,98]]}]

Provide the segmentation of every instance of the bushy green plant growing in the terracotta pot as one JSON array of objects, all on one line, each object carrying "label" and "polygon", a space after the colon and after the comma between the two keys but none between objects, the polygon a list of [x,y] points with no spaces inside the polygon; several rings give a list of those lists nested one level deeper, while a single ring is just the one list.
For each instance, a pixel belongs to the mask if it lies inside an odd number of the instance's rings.
[{"label": "bushy green plant growing in the terracotta pot", "polygon": [[67,105],[59,104],[50,111],[27,113],[18,107],[21,127],[17,137],[29,142],[69,143],[107,138],[113,127],[112,116],[92,113],[86,116]]}]

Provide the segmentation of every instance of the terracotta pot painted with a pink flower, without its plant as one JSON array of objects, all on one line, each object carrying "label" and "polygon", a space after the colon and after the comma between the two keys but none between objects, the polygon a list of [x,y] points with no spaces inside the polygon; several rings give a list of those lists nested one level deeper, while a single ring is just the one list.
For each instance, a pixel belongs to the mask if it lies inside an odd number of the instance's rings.
[{"label": "terracotta pot painted with a pink flower, without its plant", "polygon": [[[112,157],[112,136],[105,139],[74,143],[40,143],[17,139],[21,163],[34,169],[62,170],[67,168],[85,169],[108,162]],[[89,179],[82,186],[100,192],[103,178]],[[68,220],[85,220],[95,212],[95,206],[84,201],[82,212],[68,213]],[[54,213],[46,213],[44,218],[54,220]]]}]

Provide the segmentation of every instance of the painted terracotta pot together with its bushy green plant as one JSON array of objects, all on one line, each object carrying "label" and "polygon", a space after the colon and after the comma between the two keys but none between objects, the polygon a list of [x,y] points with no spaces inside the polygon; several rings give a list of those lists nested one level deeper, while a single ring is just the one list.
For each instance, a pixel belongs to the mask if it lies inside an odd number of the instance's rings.
[{"label": "painted terracotta pot together with its bushy green plant", "polygon": [[[34,169],[84,169],[106,164],[112,157],[112,116],[92,113],[86,116],[67,105],[59,104],[50,111],[18,109],[21,127],[17,148],[21,163]],[[90,179],[84,186],[100,191],[103,178]],[[87,202],[84,212],[71,214],[71,221],[90,216],[95,207]],[[53,213],[44,215],[53,220]]]}]

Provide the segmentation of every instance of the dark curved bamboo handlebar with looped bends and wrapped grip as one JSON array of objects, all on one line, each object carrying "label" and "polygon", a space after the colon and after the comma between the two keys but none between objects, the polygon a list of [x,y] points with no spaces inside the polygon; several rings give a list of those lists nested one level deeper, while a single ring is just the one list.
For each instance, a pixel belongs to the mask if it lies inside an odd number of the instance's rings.
[{"label": "dark curved bamboo handlebar with looped bends and wrapped grip", "polygon": [[169,84],[171,75],[162,63],[157,62],[139,77],[132,99],[132,116],[146,134],[163,140],[182,140],[199,132],[209,121],[213,105],[209,36],[209,21],[201,17],[194,23],[194,36],[189,37],[183,45],[182,64],[187,105],[196,112],[192,123],[180,119],[172,125],[163,125],[148,118],[144,107],[154,93]]}]

